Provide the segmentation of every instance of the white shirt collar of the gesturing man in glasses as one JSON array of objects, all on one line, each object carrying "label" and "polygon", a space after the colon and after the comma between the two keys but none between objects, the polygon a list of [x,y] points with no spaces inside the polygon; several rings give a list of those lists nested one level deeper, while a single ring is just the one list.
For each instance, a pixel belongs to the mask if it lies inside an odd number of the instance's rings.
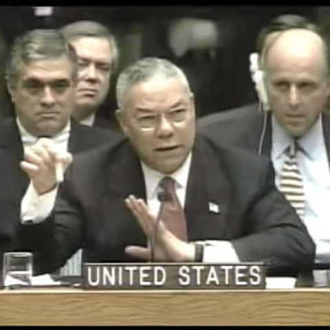
[{"label": "white shirt collar of the gesturing man in glasses", "polygon": [[172,177],[175,179],[175,184],[179,188],[186,188],[188,181],[189,168],[191,163],[192,153],[190,152],[184,164],[171,173],[170,175],[164,175],[163,173],[158,172],[157,170],[153,170],[144,162],[141,161],[142,171],[144,174],[144,181],[146,182],[146,197],[147,199],[152,199],[157,195],[159,181],[162,180],[163,177]]}]

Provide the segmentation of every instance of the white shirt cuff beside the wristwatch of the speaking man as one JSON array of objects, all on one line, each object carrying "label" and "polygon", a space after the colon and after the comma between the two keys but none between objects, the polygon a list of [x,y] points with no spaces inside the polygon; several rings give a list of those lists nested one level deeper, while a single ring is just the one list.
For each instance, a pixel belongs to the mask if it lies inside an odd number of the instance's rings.
[{"label": "white shirt cuff beside the wristwatch of the speaking man", "polygon": [[198,241],[204,245],[204,263],[239,263],[232,243],[229,241]]}]

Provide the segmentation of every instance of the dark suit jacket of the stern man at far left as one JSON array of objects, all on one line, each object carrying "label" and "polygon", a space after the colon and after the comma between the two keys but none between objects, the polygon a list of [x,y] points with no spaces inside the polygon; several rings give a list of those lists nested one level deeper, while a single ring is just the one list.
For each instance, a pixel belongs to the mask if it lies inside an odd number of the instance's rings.
[{"label": "dark suit jacket of the stern man at far left", "polygon": [[[109,140],[115,140],[113,133],[72,121],[68,148],[71,153],[76,155],[96,148]],[[5,236],[6,241],[12,241],[14,245],[19,225],[21,198],[28,188],[30,180],[19,166],[23,159],[23,144],[16,120],[13,118],[0,124],[0,150],[0,238]],[[6,246],[8,246],[7,243]]]}]

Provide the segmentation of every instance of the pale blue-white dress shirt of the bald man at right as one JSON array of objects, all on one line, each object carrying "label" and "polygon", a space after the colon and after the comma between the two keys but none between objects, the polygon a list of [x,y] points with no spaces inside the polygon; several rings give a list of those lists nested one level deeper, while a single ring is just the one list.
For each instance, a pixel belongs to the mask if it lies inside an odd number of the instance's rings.
[{"label": "pale blue-white dress shirt of the bald man at right", "polygon": [[[272,117],[272,162],[279,185],[285,149],[293,143],[283,127]],[[297,163],[303,177],[305,216],[303,221],[316,243],[316,263],[330,263],[330,170],[323,134],[322,118],[298,140]]]}]

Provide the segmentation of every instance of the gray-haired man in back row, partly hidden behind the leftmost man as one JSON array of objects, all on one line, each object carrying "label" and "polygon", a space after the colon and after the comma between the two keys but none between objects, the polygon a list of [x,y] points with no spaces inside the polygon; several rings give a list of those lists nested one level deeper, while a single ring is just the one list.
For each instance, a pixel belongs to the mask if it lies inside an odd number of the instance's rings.
[{"label": "gray-haired man in back row, partly hidden behind the leftmost man", "polygon": [[[118,65],[118,47],[113,34],[107,26],[95,21],[70,23],[61,32],[75,48],[78,56],[73,117],[81,124],[89,126],[118,128],[114,123],[115,109],[111,109],[111,104],[107,103],[111,75]],[[102,106],[107,113],[101,113]],[[113,122],[109,120],[111,115]]]}]

